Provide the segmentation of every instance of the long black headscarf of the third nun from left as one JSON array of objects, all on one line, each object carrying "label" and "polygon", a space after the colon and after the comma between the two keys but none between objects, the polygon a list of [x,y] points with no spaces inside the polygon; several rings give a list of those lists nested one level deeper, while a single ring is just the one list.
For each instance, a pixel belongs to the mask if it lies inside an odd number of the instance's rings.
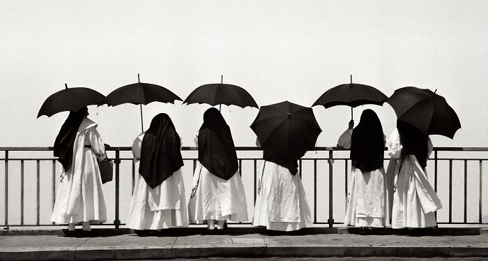
[{"label": "long black headscarf of the third nun from left", "polygon": [[230,179],[239,167],[231,130],[214,107],[204,113],[198,133],[198,161],[222,179]]}]

